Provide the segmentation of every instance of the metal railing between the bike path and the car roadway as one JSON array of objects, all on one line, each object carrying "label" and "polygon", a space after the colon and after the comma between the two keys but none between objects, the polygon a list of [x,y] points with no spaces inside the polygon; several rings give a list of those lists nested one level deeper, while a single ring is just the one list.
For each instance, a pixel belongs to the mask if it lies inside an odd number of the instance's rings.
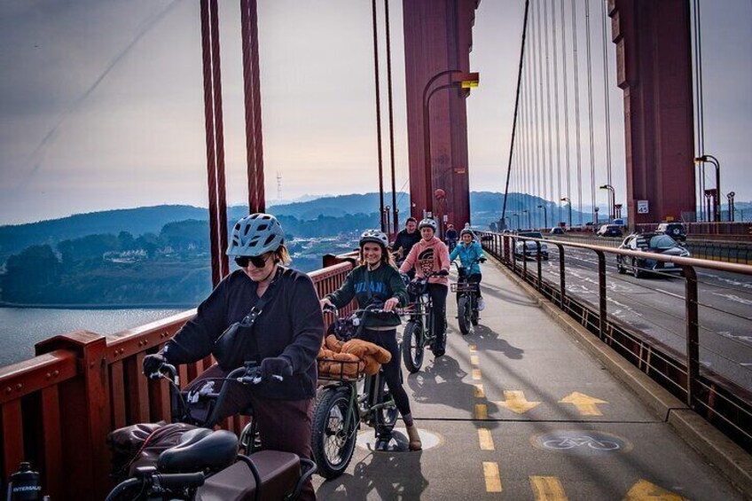
[{"label": "metal railing between the bike path and the car roadway", "polygon": [[[752,276],[752,266],[650,254],[650,259],[673,263],[682,270],[685,291],[684,296],[678,296],[678,298],[684,302],[684,317],[681,319],[684,325],[685,346],[680,350],[676,347],[671,348],[648,333],[609,314],[609,302],[612,304],[618,304],[618,302],[614,301],[613,293],[609,295],[609,285],[614,286],[616,279],[612,278],[609,284],[606,256],[610,255],[615,259],[616,255],[622,255],[624,258],[638,259],[645,258],[645,253],[564,239],[533,239],[490,232],[478,234],[483,248],[496,256],[513,273],[535,287],[539,293],[571,317],[576,318],[581,325],[630,360],[640,370],[684,400],[694,411],[709,419],[747,450],[752,450],[752,392],[750,392],[752,371],[750,367],[740,362],[733,362],[727,356],[724,357],[723,362],[732,363],[731,371],[737,376],[735,379],[727,377],[727,373],[718,372],[716,367],[701,363],[701,349],[703,354],[713,353],[714,356],[718,356],[718,353],[717,349],[709,344],[711,338],[709,334],[715,331],[701,324],[700,307],[706,309],[710,307],[701,302],[696,272],[696,270],[711,270],[729,272],[735,274],[736,277],[748,277]],[[529,262],[523,248],[516,247],[518,242],[522,242],[524,246],[525,241],[536,243],[536,251],[530,253],[534,259],[533,262]],[[546,258],[541,252],[543,245],[546,245],[549,250]],[[574,267],[571,262],[567,263],[566,257],[568,254],[573,254],[575,250],[592,253],[597,259],[598,291],[595,294],[595,301],[588,301],[568,289],[568,278],[571,279]],[[558,254],[558,260],[554,262],[556,254]],[[547,267],[549,270],[545,274],[544,259],[551,260]],[[615,268],[613,263],[615,261],[612,262],[612,269]],[[671,295],[677,296],[677,294]],[[660,309],[661,305],[657,307]],[[722,313],[717,308],[713,309],[717,314]],[[675,312],[673,315],[678,317]],[[737,325],[740,323],[745,325],[743,329],[746,329],[746,333],[749,332],[752,318],[743,315],[729,315],[729,317]],[[726,341],[728,340],[724,342]],[[747,354],[752,353],[752,347],[743,342],[739,343],[738,348],[739,351]],[[739,383],[740,379],[746,380],[746,384],[742,386]]]}]

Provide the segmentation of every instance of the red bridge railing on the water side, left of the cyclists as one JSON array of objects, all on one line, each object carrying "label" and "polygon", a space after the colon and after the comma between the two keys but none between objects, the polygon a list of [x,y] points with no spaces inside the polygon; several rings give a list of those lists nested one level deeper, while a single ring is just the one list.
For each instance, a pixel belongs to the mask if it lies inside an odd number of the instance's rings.
[{"label": "red bridge railing on the water side, left of the cyclists", "polygon": [[[352,256],[309,273],[319,296],[336,290],[353,268]],[[106,435],[137,422],[169,419],[165,381],[146,380],[144,356],[159,349],[195,309],[113,336],[78,331],[37,343],[36,356],[0,368],[0,427],[4,480],[21,461],[42,474],[52,499],[102,499],[112,488]],[[181,365],[182,383],[213,363],[209,356]],[[238,433],[239,417],[223,427]]]}]

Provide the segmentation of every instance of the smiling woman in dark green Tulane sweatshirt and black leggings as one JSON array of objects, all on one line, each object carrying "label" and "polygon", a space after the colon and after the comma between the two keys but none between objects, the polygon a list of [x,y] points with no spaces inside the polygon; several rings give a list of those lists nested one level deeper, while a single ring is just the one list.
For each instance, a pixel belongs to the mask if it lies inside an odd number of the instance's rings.
[{"label": "smiling woman in dark green Tulane sweatshirt and black leggings", "polygon": [[[342,308],[355,298],[359,308],[365,308],[372,302],[381,302],[383,309],[391,311],[407,303],[404,282],[396,270],[392,254],[387,251],[387,235],[379,230],[364,231],[360,237],[360,266],[350,271],[342,286],[336,292],[327,294],[321,300],[321,308],[331,305]],[[402,414],[407,434],[410,438],[410,450],[420,450],[421,442],[418,427],[412,419],[410,400],[404,391],[401,379],[400,352],[397,345],[396,326],[400,317],[366,317],[364,333],[361,339],[370,341],[386,349],[392,358],[384,364],[384,376],[389,393],[395,398],[397,410]],[[390,437],[379,437],[377,450],[385,450]]]}]

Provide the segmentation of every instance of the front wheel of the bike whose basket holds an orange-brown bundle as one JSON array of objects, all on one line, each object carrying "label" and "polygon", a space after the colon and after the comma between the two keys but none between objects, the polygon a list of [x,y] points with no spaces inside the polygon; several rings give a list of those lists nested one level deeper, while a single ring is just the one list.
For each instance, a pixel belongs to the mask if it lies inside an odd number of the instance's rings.
[{"label": "front wheel of the bike whose basket holds an orange-brown bundle", "polygon": [[328,387],[317,395],[310,446],[318,474],[325,479],[343,474],[355,451],[357,418],[349,392],[349,387]]}]

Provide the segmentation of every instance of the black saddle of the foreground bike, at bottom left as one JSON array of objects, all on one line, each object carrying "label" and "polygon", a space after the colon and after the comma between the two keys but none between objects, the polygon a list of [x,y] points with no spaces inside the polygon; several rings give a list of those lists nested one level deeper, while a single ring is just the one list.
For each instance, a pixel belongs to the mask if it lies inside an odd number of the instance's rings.
[{"label": "black saddle of the foreground bike, at bottom left", "polygon": [[238,456],[238,437],[226,430],[196,428],[186,432],[175,447],[160,454],[157,469],[164,473],[221,470]]}]

